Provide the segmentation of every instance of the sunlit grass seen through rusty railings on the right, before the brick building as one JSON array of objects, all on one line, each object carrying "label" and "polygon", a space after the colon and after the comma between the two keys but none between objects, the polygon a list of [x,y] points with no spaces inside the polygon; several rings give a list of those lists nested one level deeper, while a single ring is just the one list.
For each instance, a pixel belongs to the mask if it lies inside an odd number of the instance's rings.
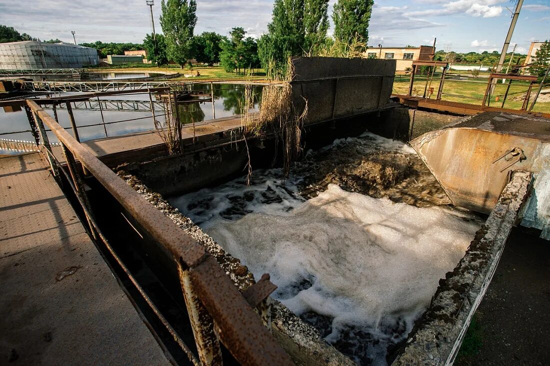
[{"label": "sunlit grass seen through rusty railings on the right, before the brick building", "polygon": [[[439,77],[441,77],[441,74],[439,75],[435,74],[433,76],[434,80],[431,82],[431,85],[430,85],[430,81],[428,80],[428,89],[432,87],[434,90],[432,98],[435,98],[437,96],[437,89],[439,87],[439,80],[438,80]],[[468,77],[467,79],[453,80],[453,79],[450,79],[450,77],[449,79],[445,80],[445,84],[443,85],[443,95],[441,97],[442,99],[444,99],[445,101],[452,101],[452,102],[481,104],[483,100],[483,95],[485,94],[485,90],[487,88],[488,80],[486,78]],[[426,76],[422,76],[422,77],[415,76],[413,94],[419,95],[419,96],[423,95],[424,88],[426,86],[426,79],[427,79]],[[395,81],[393,83],[393,92],[398,94],[406,94],[409,91],[409,81],[410,81],[410,76],[408,75],[407,76],[396,75]],[[535,97],[537,87],[538,85],[533,86],[529,105],[531,104],[532,99]],[[507,84],[502,84],[502,80],[499,80],[493,95],[491,95],[491,101],[489,104],[490,106],[492,107],[502,106],[502,100],[504,97],[504,93],[506,92],[506,88],[507,88]],[[510,91],[508,92],[508,97],[506,99],[506,103],[504,104],[504,108],[520,109],[523,103],[523,97],[527,91],[527,88],[529,88],[528,83],[521,82],[521,81],[513,81],[510,87]],[[497,101],[497,98],[498,98],[498,101]],[[535,108],[533,108],[533,111],[550,113],[550,103],[537,102],[535,104]]]}]

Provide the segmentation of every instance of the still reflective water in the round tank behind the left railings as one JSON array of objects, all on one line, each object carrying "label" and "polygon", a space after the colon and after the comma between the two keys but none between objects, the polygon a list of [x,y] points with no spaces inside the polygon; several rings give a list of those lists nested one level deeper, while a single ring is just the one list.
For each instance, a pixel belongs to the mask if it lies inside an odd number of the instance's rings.
[{"label": "still reflective water in the round tank behind the left railings", "polygon": [[[194,84],[191,85],[193,91],[204,94],[204,98],[210,96],[210,84]],[[244,85],[237,84],[214,84],[214,108],[216,112],[216,118],[231,117],[232,115],[241,114],[241,105],[244,99]],[[250,110],[257,110],[259,101],[261,98],[261,86],[253,86],[255,98],[254,106]],[[63,95],[76,95],[77,93],[62,93]],[[203,97],[201,97],[203,98]],[[149,96],[147,93],[140,95],[126,95],[126,96],[108,96],[101,97],[102,100],[124,100],[124,101],[140,101],[149,103]],[[76,104],[76,105],[75,105]],[[51,107],[44,106],[46,111],[53,117]],[[86,109],[87,108],[87,109]],[[69,117],[67,110],[57,107],[57,113],[59,116],[59,123],[63,127],[70,127]],[[78,132],[81,141],[94,140],[96,138],[102,138],[106,136],[118,136],[131,134],[133,132],[149,131],[154,129],[153,119],[151,112],[141,112],[136,110],[103,110],[103,120],[105,120],[105,127],[102,125],[102,117],[100,110],[90,110],[89,107],[85,107],[84,103],[73,103],[73,113],[76,120],[76,126],[78,126]],[[164,122],[164,112],[155,112],[157,120]],[[197,99],[196,102],[180,104],[179,115],[182,123],[195,123],[213,119],[212,102],[201,102]],[[130,120],[130,121],[126,121]],[[108,124],[113,121],[124,121],[120,123]],[[99,126],[87,126],[101,124]],[[30,132],[29,122],[27,121],[26,113],[24,109],[18,112],[5,112],[0,109],[0,138],[10,138],[13,140],[26,140],[34,141]],[[11,133],[19,132],[19,133]],[[48,132],[48,137],[52,142],[57,139]],[[7,153],[0,151],[0,153]]]}]

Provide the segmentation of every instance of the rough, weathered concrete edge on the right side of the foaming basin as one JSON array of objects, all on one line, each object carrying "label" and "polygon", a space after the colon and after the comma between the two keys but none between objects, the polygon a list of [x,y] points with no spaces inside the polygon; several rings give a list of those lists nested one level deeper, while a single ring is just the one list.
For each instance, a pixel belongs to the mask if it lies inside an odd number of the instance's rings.
[{"label": "rough, weathered concrete edge on the right side of the foaming basin", "polygon": [[392,365],[452,365],[478,305],[493,278],[520,209],[529,196],[532,173],[514,171],[486,223],[465,256],[432,297],[402,353]]}]

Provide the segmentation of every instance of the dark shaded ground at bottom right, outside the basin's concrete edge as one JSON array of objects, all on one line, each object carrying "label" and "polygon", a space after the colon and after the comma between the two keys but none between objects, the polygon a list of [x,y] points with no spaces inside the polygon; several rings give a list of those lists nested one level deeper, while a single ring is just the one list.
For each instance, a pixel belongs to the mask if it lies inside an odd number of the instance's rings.
[{"label": "dark shaded ground at bottom right, outside the basin's concrete edge", "polygon": [[478,353],[455,365],[550,365],[549,309],[550,242],[514,229],[477,309]]}]

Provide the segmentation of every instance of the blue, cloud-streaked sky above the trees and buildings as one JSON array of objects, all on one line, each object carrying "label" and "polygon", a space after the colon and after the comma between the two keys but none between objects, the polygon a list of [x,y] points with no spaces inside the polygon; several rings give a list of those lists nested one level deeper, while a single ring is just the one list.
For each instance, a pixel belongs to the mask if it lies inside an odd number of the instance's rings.
[{"label": "blue, cloud-streaked sky above the trees and buildings", "polygon": [[[329,16],[332,14],[330,1]],[[271,21],[273,0],[196,0],[195,34],[227,35],[241,26],[259,37]],[[161,32],[161,1],[155,0],[155,30]],[[17,5],[16,5],[17,4]],[[432,45],[456,52],[500,51],[508,32],[513,1],[499,0],[375,0],[368,44]],[[507,9],[509,8],[509,9]],[[141,43],[151,33],[145,0],[0,0],[0,24],[20,33],[72,42]],[[332,28],[332,24],[331,24]],[[332,29],[329,30],[332,34]],[[516,52],[527,53],[532,41],[550,39],[550,0],[525,0],[511,40]]]}]

